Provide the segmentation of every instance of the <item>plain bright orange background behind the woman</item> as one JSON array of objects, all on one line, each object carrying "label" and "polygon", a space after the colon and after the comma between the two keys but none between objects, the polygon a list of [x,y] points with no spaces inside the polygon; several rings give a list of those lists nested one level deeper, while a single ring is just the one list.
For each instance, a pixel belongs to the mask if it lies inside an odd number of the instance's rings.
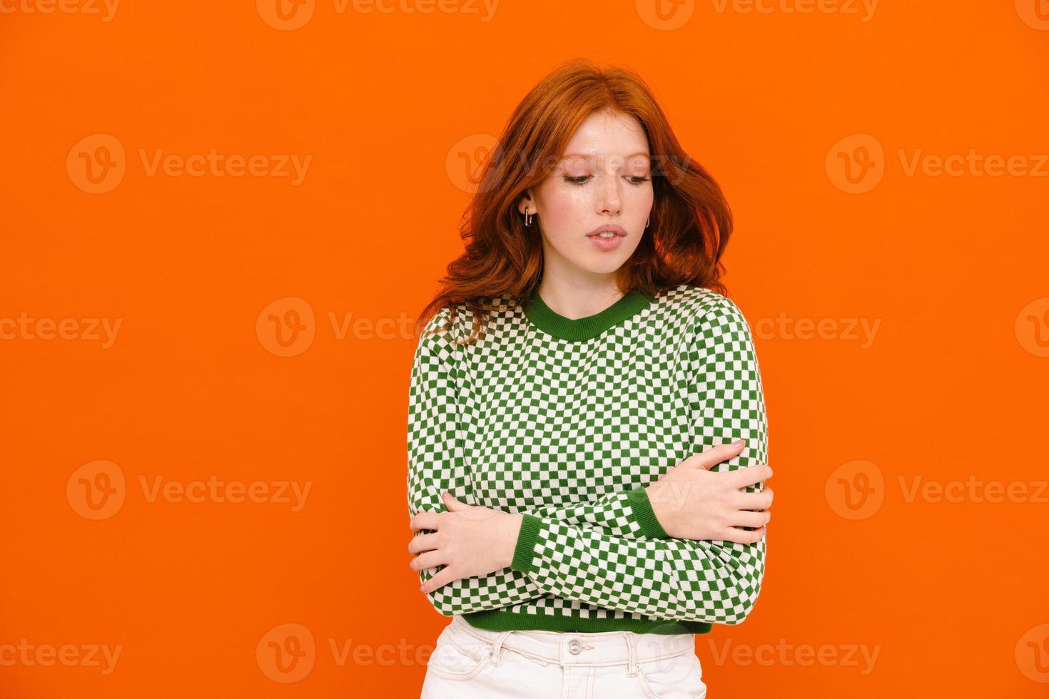
[{"label": "plain bright orange background behind the woman", "polygon": [[[1049,6],[801,1],[318,2],[288,28],[265,3],[0,0],[0,323],[73,329],[0,342],[0,647],[85,660],[2,664],[0,695],[418,696],[448,619],[408,568],[410,321],[462,249],[465,163],[576,56],[637,69],[735,215],[776,500],[754,611],[697,637],[710,696],[1049,695]],[[78,146],[97,134],[125,152],[102,193],[77,170],[107,159]],[[140,154],[211,149],[312,159],[293,184]],[[1042,174],[907,174],[969,149]],[[845,162],[881,179],[847,191]],[[83,319],[120,319],[115,342]],[[100,472],[124,501],[94,520]],[[157,477],[311,490],[150,501]],[[908,499],[919,477],[1029,498]],[[286,624],[315,642],[299,677],[266,660]],[[92,645],[121,646],[113,672]]]}]

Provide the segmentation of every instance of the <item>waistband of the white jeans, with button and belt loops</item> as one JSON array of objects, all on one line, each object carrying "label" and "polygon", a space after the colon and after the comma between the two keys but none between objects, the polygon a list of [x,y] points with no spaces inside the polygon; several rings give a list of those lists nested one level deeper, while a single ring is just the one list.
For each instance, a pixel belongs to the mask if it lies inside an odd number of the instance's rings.
[{"label": "waistband of the white jeans, with button and belt loops", "polygon": [[502,651],[511,650],[534,659],[561,665],[626,664],[627,673],[637,663],[671,658],[695,652],[691,634],[641,634],[634,631],[573,633],[561,631],[492,631],[478,629],[459,615],[452,617],[448,631],[457,643],[490,654],[498,665]]}]

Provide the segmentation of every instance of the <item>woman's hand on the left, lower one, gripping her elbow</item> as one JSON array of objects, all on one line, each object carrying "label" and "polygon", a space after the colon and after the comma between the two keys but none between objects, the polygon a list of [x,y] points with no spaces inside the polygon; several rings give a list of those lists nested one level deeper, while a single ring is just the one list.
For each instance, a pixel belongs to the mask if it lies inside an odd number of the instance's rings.
[{"label": "woman's hand on the left, lower one, gripping her elbow", "polygon": [[419,512],[409,523],[412,531],[434,531],[412,537],[408,550],[419,555],[408,565],[414,570],[445,566],[420,588],[423,592],[509,567],[523,519],[520,514],[468,505],[447,493],[443,498],[447,512]]}]

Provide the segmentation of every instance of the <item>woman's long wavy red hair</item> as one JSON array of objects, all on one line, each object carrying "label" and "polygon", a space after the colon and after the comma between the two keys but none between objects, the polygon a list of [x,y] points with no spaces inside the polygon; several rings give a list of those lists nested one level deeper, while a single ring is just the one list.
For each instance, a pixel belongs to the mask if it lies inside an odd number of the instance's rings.
[{"label": "woman's long wavy red hair", "polygon": [[524,95],[489,153],[477,192],[463,215],[465,250],[448,264],[442,289],[420,314],[416,334],[445,306],[450,310],[448,329],[458,304],[464,304],[475,323],[463,342],[474,342],[486,312],[508,309],[495,304],[496,298],[514,304],[528,299],[542,270],[541,222],[526,226],[516,203],[528,188],[547,177],[579,125],[603,110],[630,114],[641,123],[651,162],[650,223],[616,272],[620,291],[658,296],[690,284],[727,294],[721,257],[732,233],[732,214],[721,188],[678,143],[638,74],[576,60]]}]

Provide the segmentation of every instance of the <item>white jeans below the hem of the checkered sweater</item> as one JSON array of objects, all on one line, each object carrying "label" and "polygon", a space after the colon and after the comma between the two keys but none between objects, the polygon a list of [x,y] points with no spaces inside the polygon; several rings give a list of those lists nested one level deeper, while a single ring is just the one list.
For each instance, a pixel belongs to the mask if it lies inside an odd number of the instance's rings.
[{"label": "white jeans below the hem of the checkered sweater", "polygon": [[704,699],[702,677],[691,634],[488,631],[453,616],[420,699]]}]

